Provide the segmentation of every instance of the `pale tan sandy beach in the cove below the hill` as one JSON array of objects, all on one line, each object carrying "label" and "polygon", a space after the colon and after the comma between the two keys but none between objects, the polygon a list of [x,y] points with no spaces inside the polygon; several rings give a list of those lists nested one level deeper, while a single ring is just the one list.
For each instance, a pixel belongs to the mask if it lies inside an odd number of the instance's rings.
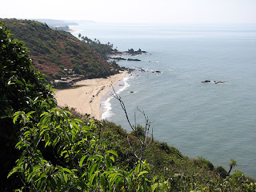
[{"label": "pale tan sandy beach in the cove below the hill", "polygon": [[114,74],[108,78],[86,79],[76,82],[74,86],[81,86],[74,89],[55,90],[55,98],[58,106],[70,106],[76,108],[81,114],[90,114],[100,120],[100,102],[103,95],[107,94],[113,86],[122,78],[126,77],[126,72]]}]

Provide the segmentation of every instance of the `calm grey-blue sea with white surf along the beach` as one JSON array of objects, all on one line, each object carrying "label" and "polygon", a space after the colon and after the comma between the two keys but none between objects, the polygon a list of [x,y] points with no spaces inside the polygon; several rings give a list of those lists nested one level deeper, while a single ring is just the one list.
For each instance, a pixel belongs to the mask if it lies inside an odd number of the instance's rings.
[{"label": "calm grey-blue sea with white surf along the beach", "polygon": [[[114,87],[131,122],[145,124],[141,110],[159,142],[226,170],[233,158],[256,178],[256,24],[78,24],[74,36],[147,52],[118,62],[134,69]],[[131,131],[110,93],[101,106],[103,119]]]}]

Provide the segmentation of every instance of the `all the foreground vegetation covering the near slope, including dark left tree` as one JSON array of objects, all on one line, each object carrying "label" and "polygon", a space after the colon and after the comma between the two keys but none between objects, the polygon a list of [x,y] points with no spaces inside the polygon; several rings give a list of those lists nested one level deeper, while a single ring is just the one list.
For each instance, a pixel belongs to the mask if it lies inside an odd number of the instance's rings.
[{"label": "all the foreground vegetation covering the near slope, including dark left tree", "polygon": [[256,190],[241,171],[228,174],[164,142],[152,142],[138,162],[145,127],[127,133],[58,108],[23,45],[0,26],[1,191]]}]

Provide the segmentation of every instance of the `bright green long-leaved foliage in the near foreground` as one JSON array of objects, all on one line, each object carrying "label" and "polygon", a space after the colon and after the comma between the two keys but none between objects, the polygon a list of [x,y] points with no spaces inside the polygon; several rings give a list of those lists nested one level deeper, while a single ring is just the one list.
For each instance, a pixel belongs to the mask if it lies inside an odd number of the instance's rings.
[{"label": "bright green long-leaved foliage in the near foreground", "polygon": [[[106,142],[91,131],[94,121],[70,118],[69,111],[52,109],[41,114],[34,124],[34,112],[18,111],[14,123],[22,124],[16,147],[22,150],[8,177],[18,174],[26,186],[22,190],[38,191],[161,191],[169,182],[150,180],[150,166],[139,163],[134,169],[123,170],[114,165],[118,154],[106,149]],[[43,150],[55,151],[46,159]]]}]

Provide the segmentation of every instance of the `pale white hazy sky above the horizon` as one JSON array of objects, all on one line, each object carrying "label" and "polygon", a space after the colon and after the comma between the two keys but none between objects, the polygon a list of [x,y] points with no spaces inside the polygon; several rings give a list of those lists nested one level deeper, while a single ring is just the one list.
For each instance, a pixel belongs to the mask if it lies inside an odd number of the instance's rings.
[{"label": "pale white hazy sky above the horizon", "polygon": [[1,2],[0,18],[256,23],[256,0],[9,0]]}]

